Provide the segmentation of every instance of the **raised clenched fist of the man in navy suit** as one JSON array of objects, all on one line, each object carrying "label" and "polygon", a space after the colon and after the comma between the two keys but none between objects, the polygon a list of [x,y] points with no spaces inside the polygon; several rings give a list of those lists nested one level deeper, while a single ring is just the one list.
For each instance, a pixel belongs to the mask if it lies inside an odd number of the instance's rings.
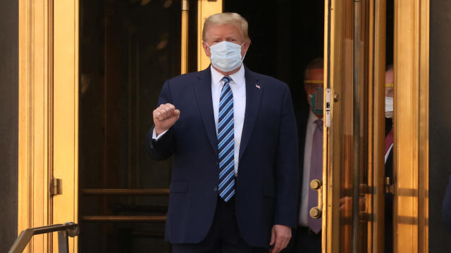
[{"label": "raised clenched fist of the man in navy suit", "polygon": [[160,105],[154,110],[155,133],[158,136],[171,128],[180,117],[180,110],[176,110],[170,103]]}]

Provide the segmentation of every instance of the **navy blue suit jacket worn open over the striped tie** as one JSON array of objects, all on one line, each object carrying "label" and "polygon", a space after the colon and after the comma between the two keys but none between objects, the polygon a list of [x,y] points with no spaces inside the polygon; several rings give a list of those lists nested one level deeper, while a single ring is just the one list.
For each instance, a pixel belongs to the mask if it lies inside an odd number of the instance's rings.
[{"label": "navy blue suit jacket worn open over the striped tie", "polygon": [[[297,224],[296,122],[286,84],[247,68],[245,79],[245,122],[235,188],[237,224],[248,245],[268,247],[273,225]],[[153,128],[147,134],[151,157],[175,158],[165,237],[172,243],[198,243],[209,231],[218,197],[210,67],[166,81],[159,97],[159,105],[163,103],[180,110],[180,119],[159,141],[152,140]]]}]

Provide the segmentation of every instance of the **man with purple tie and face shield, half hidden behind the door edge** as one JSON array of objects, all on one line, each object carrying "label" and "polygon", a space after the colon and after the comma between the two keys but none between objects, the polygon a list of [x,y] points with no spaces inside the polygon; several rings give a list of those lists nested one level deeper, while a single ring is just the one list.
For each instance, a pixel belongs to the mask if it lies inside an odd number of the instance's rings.
[{"label": "man with purple tie and face shield, half hidden behind the door edge", "polygon": [[[323,59],[312,60],[304,72],[304,89],[309,112],[304,119],[304,132],[299,132],[299,210],[293,252],[321,252],[321,219],[311,218],[309,210],[318,205],[318,192],[311,190],[310,181],[323,176]],[[302,122],[302,119],[298,119]],[[301,130],[302,131],[302,130]],[[300,136],[303,135],[303,136]],[[304,137],[304,138],[302,138]],[[302,149],[302,147],[304,147]],[[302,153],[302,150],[303,153]]]}]

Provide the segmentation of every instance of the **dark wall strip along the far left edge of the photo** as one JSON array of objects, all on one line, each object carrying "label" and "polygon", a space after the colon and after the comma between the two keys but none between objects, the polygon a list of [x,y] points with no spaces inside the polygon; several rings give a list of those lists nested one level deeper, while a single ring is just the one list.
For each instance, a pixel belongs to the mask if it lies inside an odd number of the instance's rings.
[{"label": "dark wall strip along the far left edge of the photo", "polygon": [[18,1],[0,1],[0,252],[17,238]]}]

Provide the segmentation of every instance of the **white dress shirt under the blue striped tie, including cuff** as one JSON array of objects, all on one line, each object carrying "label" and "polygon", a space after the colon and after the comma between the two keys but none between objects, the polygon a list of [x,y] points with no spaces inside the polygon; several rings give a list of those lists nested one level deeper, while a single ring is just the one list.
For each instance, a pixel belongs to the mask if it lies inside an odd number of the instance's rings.
[{"label": "white dress shirt under the blue striped tie, including cuff", "polygon": [[[218,115],[219,115],[219,98],[221,97],[221,90],[223,89],[224,82],[223,74],[216,71],[214,67],[210,66],[211,70],[211,100],[213,103],[213,113],[214,113],[214,124],[216,126],[216,134],[218,134]],[[246,112],[246,80],[245,80],[245,67],[241,65],[240,70],[234,74],[230,74],[230,89],[233,93],[233,134],[235,137],[235,176],[238,174],[238,157],[240,155],[240,143],[242,135],[242,126],[245,123],[245,112]],[[181,112],[183,113],[183,112]],[[167,130],[166,130],[167,131]],[[152,138],[156,141],[163,136],[163,134],[156,136],[154,133]]]}]

